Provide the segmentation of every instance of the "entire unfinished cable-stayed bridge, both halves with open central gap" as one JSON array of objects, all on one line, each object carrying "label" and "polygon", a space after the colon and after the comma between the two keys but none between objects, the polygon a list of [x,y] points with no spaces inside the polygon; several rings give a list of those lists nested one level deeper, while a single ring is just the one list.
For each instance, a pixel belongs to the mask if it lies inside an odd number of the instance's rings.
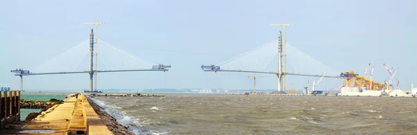
[{"label": "entire unfinished cable-stayed bridge, both halves with open central gap", "polygon": [[[99,59],[97,60],[97,53],[94,51],[99,46]],[[284,50],[284,54],[283,54]],[[286,57],[285,51],[288,51],[288,57]],[[278,55],[278,70],[277,71],[265,71],[265,67],[274,60],[274,57]],[[284,57],[285,56],[285,57]],[[90,58],[88,60],[88,57]],[[94,62],[93,57],[96,57]],[[282,60],[284,57],[284,60]],[[85,60],[89,61],[87,64],[83,63]],[[283,62],[284,61],[284,64]],[[285,64],[285,61],[288,64]],[[101,70],[94,70],[94,63],[101,65]],[[88,70],[82,70],[83,69]],[[168,71],[170,65],[154,64],[147,60],[144,60],[136,55],[128,53],[127,51],[117,48],[113,44],[105,42],[101,39],[94,39],[93,30],[90,33],[90,40],[85,40],[76,46],[68,49],[67,51],[56,55],[47,62],[40,64],[39,66],[31,69],[31,72],[23,69],[12,70],[21,79],[21,89],[23,89],[23,76],[25,75],[52,75],[52,74],[73,74],[73,73],[89,73],[90,74],[90,89],[93,91],[93,82],[97,83],[97,80],[93,80],[93,76],[97,73],[105,72],[124,72],[124,71]],[[221,68],[220,68],[221,67]],[[287,72],[286,67],[293,69],[292,72]],[[231,58],[225,62],[216,65],[202,65],[201,68],[204,71],[215,72],[246,72],[246,73],[266,73],[275,74],[278,77],[278,89],[279,92],[284,92],[286,89],[286,82],[282,78],[285,75],[298,75],[309,77],[323,77],[323,78],[341,78],[345,79],[346,76],[339,75],[338,72],[325,64],[322,64],[318,60],[310,57],[306,53],[291,46],[290,44],[283,44],[281,32],[279,33],[279,39],[267,44],[263,44],[251,51],[247,51],[237,57]],[[104,70],[105,69],[105,70]],[[327,75],[322,73],[327,72]],[[97,85],[95,87],[97,91]]]}]

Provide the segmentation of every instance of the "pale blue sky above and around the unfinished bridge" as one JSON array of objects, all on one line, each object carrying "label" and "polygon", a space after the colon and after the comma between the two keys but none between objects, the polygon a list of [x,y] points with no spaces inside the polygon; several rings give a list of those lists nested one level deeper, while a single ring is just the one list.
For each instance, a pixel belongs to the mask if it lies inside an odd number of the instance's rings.
[{"label": "pale blue sky above and around the unfinished bridge", "polygon": [[[218,64],[277,38],[291,23],[288,43],[338,71],[363,73],[370,62],[375,80],[388,78],[382,64],[398,67],[403,89],[416,83],[417,1],[1,1],[0,83],[18,88],[10,69],[30,69],[83,42],[101,21],[106,42],[154,63],[172,64],[166,73],[106,73],[99,88],[252,89],[249,73],[206,73]],[[150,48],[150,49],[149,49]],[[163,50],[163,51],[158,51]],[[176,51],[176,52],[172,52]],[[271,63],[268,70],[276,69]],[[288,77],[302,89],[309,78]],[[25,89],[87,89],[88,75],[24,78]],[[334,87],[341,84],[328,84]],[[257,81],[276,89],[277,78]],[[321,85],[320,87],[324,87]]]}]

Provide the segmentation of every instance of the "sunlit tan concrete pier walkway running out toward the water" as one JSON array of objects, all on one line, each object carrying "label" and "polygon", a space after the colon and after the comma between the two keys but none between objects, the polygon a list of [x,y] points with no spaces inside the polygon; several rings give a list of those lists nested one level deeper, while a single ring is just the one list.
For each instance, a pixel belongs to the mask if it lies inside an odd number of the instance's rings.
[{"label": "sunlit tan concrete pier walkway running out toward the water", "polygon": [[31,122],[8,125],[0,134],[113,134],[83,94],[67,97],[48,113],[43,111]]}]

